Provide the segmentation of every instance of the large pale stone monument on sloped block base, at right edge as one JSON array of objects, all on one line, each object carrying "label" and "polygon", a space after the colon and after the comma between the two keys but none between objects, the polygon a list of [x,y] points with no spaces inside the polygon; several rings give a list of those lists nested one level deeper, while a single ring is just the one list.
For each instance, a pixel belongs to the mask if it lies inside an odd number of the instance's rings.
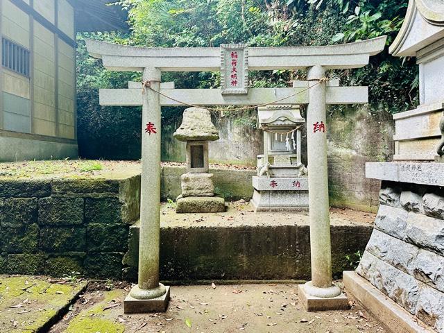
[{"label": "large pale stone monument on sloped block base, at right edge", "polygon": [[[444,1],[410,0],[393,56],[415,56],[420,106],[394,115],[395,162],[367,163],[382,180],[373,234],[345,289],[393,332],[444,332]],[[441,130],[440,130],[441,129]],[[403,161],[403,162],[401,162]]]}]

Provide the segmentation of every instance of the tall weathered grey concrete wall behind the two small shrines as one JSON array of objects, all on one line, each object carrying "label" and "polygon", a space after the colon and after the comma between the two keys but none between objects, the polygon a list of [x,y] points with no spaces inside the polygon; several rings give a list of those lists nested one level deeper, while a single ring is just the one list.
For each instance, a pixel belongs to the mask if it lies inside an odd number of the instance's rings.
[{"label": "tall weathered grey concrete wall behind the two small shrines", "polygon": [[[391,160],[394,152],[394,123],[391,114],[387,112],[370,114],[369,111],[366,107],[342,108],[327,117],[328,177],[332,207],[377,210],[381,184],[365,177],[365,163]],[[219,129],[221,139],[210,143],[210,162],[256,165],[256,156],[263,152],[262,130],[242,125],[235,117],[212,120]],[[180,122],[164,128],[162,160],[185,160],[185,145],[172,136],[179,125]],[[302,133],[302,162],[306,164],[306,130]]]}]

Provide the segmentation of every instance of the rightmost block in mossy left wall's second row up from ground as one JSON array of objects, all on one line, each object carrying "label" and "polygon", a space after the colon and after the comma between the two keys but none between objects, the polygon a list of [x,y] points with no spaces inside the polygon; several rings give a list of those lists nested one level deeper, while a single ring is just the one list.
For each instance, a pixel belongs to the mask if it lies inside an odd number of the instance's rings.
[{"label": "rightmost block in mossy left wall's second row up from ground", "polygon": [[121,224],[92,223],[87,226],[89,252],[125,252],[128,248],[128,227]]}]

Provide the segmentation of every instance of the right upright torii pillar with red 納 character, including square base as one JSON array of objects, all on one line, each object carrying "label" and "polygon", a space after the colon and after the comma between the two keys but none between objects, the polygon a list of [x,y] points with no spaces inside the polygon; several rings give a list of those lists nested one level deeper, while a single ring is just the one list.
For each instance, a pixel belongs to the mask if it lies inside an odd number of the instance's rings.
[{"label": "right upright torii pillar with red \u7d0d character, including square base", "polygon": [[[332,246],[327,175],[327,128],[325,108],[325,69],[310,67],[307,108],[307,159],[311,281],[300,285],[300,296],[308,311],[344,309],[347,298],[332,284]],[[320,82],[321,81],[321,82]]]}]

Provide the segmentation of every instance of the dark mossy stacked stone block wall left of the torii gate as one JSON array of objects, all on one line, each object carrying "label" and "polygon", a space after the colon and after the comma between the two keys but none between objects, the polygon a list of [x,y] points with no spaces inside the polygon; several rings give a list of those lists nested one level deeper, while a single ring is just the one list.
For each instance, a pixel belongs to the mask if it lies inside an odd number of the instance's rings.
[{"label": "dark mossy stacked stone block wall left of the torii gate", "polygon": [[0,273],[122,278],[140,178],[0,181]]}]

